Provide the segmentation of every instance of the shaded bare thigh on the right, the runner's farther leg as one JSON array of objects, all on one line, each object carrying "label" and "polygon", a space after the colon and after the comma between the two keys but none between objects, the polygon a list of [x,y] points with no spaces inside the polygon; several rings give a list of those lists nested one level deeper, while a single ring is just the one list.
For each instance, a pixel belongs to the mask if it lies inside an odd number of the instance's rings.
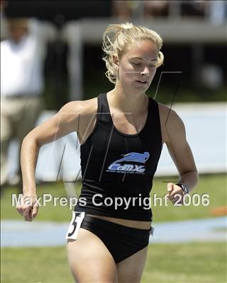
[{"label": "shaded bare thigh on the right, the runner's farther leg", "polygon": [[143,275],[145,261],[147,258],[148,247],[139,250],[130,257],[118,262],[116,265],[118,270],[119,283],[138,283]]}]

